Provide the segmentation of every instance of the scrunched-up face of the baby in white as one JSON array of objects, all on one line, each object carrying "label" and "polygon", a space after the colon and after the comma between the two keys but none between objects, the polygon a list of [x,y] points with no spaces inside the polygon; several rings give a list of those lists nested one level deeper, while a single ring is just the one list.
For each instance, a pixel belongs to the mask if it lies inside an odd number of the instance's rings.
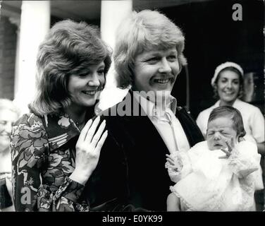
[{"label": "scrunched-up face of the baby in white", "polygon": [[234,142],[238,141],[237,132],[233,129],[233,121],[230,118],[220,117],[209,121],[207,129],[209,150],[227,148],[226,141],[232,145],[231,138],[233,138]]}]

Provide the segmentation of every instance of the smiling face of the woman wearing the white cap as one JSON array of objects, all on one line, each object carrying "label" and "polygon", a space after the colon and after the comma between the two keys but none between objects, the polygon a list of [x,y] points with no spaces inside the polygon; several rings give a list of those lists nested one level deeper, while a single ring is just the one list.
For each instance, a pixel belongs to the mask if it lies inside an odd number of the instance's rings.
[{"label": "smiling face of the woman wearing the white cap", "polygon": [[240,75],[234,71],[222,71],[217,81],[217,93],[221,104],[232,104],[240,91]]}]

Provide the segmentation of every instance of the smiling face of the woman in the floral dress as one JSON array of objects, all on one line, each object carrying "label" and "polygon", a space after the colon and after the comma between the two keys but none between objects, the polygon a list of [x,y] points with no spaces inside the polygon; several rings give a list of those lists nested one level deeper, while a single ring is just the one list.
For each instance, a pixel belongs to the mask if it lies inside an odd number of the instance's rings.
[{"label": "smiling face of the woman in the floral dress", "polygon": [[81,108],[94,106],[105,83],[104,68],[104,61],[101,61],[78,74],[70,75],[68,91],[72,97],[72,105]]}]

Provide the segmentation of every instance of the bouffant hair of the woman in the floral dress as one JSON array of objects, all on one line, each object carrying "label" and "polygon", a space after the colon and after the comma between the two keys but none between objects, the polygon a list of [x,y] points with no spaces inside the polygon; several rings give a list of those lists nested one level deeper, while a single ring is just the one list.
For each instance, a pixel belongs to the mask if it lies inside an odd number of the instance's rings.
[{"label": "bouffant hair of the woman in the floral dress", "polygon": [[105,75],[111,66],[109,47],[99,39],[97,27],[64,20],[54,25],[37,55],[37,95],[30,105],[36,114],[60,112],[70,105],[67,84],[71,74],[87,73],[92,65],[104,63]]}]

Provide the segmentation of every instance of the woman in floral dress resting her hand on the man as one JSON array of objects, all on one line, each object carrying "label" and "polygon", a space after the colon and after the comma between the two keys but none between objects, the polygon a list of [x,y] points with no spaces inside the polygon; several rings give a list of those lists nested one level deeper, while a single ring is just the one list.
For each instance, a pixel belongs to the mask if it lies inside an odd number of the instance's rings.
[{"label": "woman in floral dress resting her hand on the man", "polygon": [[84,22],[60,21],[40,44],[32,113],[11,135],[17,211],[90,210],[82,193],[107,136],[92,117],[110,64],[99,29]]}]

